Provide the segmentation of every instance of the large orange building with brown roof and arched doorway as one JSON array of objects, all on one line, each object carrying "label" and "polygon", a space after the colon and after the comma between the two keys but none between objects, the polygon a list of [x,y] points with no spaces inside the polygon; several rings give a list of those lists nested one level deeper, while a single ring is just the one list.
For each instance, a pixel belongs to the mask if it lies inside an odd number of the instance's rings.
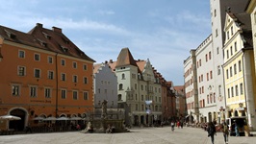
[{"label": "large orange building with brown roof and arched doorway", "polygon": [[94,60],[76,47],[62,29],[29,33],[0,26],[0,129],[22,131],[36,117],[87,117],[93,111]]}]

